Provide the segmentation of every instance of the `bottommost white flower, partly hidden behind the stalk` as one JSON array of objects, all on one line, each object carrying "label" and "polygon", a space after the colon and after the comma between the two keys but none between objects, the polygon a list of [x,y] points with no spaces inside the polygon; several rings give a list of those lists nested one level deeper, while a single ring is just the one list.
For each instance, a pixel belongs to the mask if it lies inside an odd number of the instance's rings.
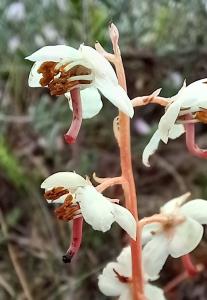
[{"label": "bottommost white flower, partly hidden behind the stalk", "polygon": [[[144,293],[147,300],[164,300],[163,291],[148,283],[145,276]],[[119,297],[119,300],[133,300],[132,296],[132,262],[131,249],[126,247],[116,262],[106,265],[98,278],[100,291],[106,296]]]}]

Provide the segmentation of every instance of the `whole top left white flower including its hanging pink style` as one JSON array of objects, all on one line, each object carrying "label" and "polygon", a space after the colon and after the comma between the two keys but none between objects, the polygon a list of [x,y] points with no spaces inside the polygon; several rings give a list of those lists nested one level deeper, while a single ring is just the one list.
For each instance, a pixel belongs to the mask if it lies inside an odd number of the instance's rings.
[{"label": "whole top left white flower including its hanging pink style", "polygon": [[119,110],[132,117],[133,106],[111,64],[95,49],[81,45],[78,50],[65,46],[46,46],[26,59],[34,65],[29,86],[47,87],[51,95],[65,95],[73,110],[73,121],[65,138],[74,143],[82,118],[92,118],[102,108],[100,93]]}]

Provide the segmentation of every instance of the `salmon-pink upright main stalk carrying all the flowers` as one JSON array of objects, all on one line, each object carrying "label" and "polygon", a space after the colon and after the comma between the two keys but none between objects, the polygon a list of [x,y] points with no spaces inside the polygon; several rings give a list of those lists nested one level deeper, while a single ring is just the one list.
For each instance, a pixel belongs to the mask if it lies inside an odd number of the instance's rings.
[{"label": "salmon-pink upright main stalk carrying all the flowers", "polygon": [[[114,26],[114,25],[113,25]],[[125,71],[123,62],[118,46],[118,38],[112,39],[114,51],[114,65],[120,86],[127,91]],[[131,211],[138,224],[138,209],[137,209],[137,195],[135,189],[135,182],[132,170],[131,161],[131,136],[130,136],[130,120],[129,117],[119,111],[119,143],[120,161],[122,177],[125,180],[123,185],[126,208]],[[137,227],[138,228],[138,227]],[[132,254],[132,286],[133,286],[133,299],[141,300],[144,294],[144,280],[142,272],[142,248],[141,248],[141,235],[137,230],[136,241],[131,239],[131,254]]]}]

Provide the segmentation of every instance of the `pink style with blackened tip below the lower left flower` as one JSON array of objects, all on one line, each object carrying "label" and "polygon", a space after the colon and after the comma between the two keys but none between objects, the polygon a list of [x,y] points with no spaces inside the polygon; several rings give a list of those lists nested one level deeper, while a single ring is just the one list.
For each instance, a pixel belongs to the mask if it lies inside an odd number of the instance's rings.
[{"label": "pink style with blackened tip below the lower left flower", "polygon": [[78,252],[82,241],[83,217],[73,219],[73,232],[70,246],[65,255],[63,262],[70,263],[73,256]]}]

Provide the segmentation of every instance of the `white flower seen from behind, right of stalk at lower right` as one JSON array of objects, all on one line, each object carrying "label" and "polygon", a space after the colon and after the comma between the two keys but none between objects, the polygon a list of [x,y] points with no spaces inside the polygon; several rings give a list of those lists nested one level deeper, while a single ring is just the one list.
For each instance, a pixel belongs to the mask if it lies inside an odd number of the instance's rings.
[{"label": "white flower seen from behind, right of stalk at lower right", "polygon": [[160,214],[166,218],[164,223],[144,226],[143,264],[150,276],[160,272],[168,255],[174,258],[183,256],[201,241],[201,224],[207,224],[207,201],[195,199],[183,205],[189,195],[174,198],[161,207]]}]

